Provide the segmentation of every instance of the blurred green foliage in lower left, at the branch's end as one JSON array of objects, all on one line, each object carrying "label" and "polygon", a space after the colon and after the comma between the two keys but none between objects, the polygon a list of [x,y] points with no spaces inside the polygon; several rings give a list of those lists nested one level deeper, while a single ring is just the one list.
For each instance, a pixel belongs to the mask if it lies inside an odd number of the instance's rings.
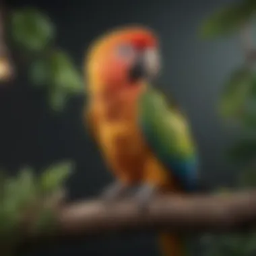
[{"label": "blurred green foliage in lower left, at the branch's end", "polygon": [[16,177],[6,177],[3,170],[1,171],[0,236],[2,240],[0,249],[6,245],[10,249],[14,248],[21,241],[24,230],[20,230],[20,224],[22,220],[28,218],[30,209],[36,209],[38,214],[32,216],[36,218],[27,231],[53,231],[56,224],[53,206],[44,205],[43,207],[42,202],[63,189],[65,179],[70,172],[69,162],[55,164],[39,176],[36,176],[29,167],[22,168]]}]

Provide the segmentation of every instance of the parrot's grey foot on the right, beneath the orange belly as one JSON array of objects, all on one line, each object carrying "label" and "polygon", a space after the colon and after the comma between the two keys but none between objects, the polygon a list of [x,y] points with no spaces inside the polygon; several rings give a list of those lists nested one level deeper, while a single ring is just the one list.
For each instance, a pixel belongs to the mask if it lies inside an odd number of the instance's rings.
[{"label": "parrot's grey foot on the right, beneath the orange belly", "polygon": [[139,204],[138,207],[141,212],[148,210],[148,205],[155,194],[156,187],[152,185],[145,184],[139,187],[139,190],[137,191],[135,197],[137,199],[137,202]]}]

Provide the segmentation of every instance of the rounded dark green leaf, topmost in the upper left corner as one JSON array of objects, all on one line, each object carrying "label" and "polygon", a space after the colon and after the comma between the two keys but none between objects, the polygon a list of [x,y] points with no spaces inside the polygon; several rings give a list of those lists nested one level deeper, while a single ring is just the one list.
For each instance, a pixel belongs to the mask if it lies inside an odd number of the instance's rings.
[{"label": "rounded dark green leaf, topmost in the upper left corner", "polygon": [[22,49],[39,52],[53,40],[55,28],[48,16],[38,9],[26,7],[11,13],[11,34]]}]

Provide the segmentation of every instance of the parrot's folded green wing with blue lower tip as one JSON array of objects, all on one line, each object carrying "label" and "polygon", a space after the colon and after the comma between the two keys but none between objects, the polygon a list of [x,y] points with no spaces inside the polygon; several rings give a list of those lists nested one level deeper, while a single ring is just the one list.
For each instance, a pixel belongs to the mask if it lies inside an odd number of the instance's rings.
[{"label": "parrot's folded green wing with blue lower tip", "polygon": [[139,125],[156,157],[186,190],[197,187],[197,152],[185,117],[150,88],[139,101]]}]

